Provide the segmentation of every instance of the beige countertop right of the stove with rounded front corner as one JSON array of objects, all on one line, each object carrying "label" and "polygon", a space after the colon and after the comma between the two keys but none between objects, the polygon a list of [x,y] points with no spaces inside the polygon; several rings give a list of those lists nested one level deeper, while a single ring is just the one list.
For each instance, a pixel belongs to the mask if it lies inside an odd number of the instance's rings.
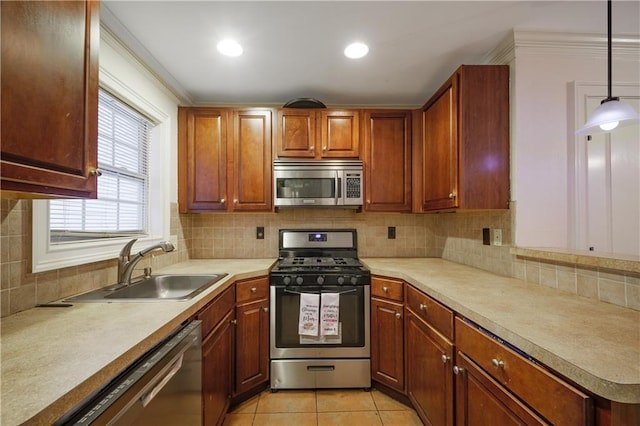
[{"label": "beige countertop right of the stove with rounded front corner", "polygon": [[640,404],[640,312],[435,258],[361,259],[615,402]]}]

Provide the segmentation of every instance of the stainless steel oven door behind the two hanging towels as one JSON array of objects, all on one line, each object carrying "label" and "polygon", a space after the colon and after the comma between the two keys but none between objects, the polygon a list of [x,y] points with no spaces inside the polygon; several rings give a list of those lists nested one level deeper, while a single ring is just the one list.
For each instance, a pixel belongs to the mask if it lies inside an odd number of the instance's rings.
[{"label": "stainless steel oven door behind the two hanging towels", "polygon": [[[309,337],[298,334],[300,294],[339,293],[338,337]],[[271,359],[368,358],[369,298],[371,288],[361,286],[271,286]]]}]

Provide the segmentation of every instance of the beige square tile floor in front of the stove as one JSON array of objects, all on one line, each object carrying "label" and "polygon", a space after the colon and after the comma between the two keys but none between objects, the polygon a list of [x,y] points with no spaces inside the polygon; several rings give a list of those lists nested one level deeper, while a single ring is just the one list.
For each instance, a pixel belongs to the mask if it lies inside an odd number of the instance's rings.
[{"label": "beige square tile floor in front of the stove", "polygon": [[410,407],[372,389],[266,390],[234,407],[224,426],[421,426]]}]

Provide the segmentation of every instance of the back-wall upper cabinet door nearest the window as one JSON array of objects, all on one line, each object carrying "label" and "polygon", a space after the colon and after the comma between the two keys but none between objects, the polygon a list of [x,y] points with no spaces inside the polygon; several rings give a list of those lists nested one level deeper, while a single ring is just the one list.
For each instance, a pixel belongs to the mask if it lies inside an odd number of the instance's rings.
[{"label": "back-wall upper cabinet door nearest the window", "polygon": [[227,111],[180,108],[180,211],[226,210]]}]

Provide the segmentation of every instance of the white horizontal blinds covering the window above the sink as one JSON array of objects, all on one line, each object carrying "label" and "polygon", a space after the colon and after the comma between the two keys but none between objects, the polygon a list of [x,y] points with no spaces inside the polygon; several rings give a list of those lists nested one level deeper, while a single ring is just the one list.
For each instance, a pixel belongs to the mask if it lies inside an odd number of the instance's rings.
[{"label": "white horizontal blinds covering the window above the sink", "polygon": [[151,127],[144,116],[100,90],[98,198],[51,200],[52,243],[147,233]]}]

